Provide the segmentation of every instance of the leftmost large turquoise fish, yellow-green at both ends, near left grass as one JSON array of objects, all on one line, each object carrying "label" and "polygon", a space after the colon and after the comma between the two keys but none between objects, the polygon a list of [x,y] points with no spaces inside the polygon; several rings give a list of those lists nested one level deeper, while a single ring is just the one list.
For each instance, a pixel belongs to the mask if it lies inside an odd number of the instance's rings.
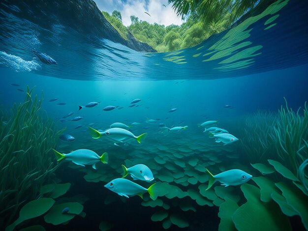
[{"label": "leftmost large turquoise fish, yellow-green at both ends, near left grass", "polygon": [[57,157],[57,161],[66,159],[82,167],[86,167],[85,165],[92,165],[92,168],[96,169],[95,165],[97,162],[101,161],[104,164],[108,163],[107,152],[104,152],[101,156],[98,156],[96,152],[89,149],[78,149],[67,154],[62,154],[55,149],[53,149],[53,151]]}]

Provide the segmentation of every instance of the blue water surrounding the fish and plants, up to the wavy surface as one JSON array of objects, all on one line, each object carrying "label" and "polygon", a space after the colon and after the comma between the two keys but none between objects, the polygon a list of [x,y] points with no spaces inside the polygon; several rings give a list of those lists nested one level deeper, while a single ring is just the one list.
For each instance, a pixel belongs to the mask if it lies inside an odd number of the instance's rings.
[{"label": "blue water surrounding the fish and plants, up to the wavy surface", "polygon": [[[12,12],[19,10],[7,10],[3,3],[0,11],[1,116],[10,111],[14,103],[24,101],[27,86],[35,86],[32,96],[37,94],[42,97],[43,94],[41,111],[46,111],[46,114],[42,114],[55,121],[57,130],[66,128],[65,133],[75,138],[74,142],[59,140],[53,148],[61,153],[87,148],[96,151],[98,155],[108,152],[110,156],[108,165],[99,163],[97,167],[96,172],[106,176],[98,182],[88,182],[84,178],[87,174],[95,173],[91,166],[77,168],[64,162],[55,171],[61,183],[72,183],[62,199],[79,194],[89,198],[83,204],[83,211],[87,213],[85,218],[76,216],[66,226],[54,226],[46,223],[40,216],[21,223],[18,229],[39,224],[46,230],[97,230],[101,221],[112,223],[115,230],[163,229],[162,222],[151,221],[152,214],[159,210],[157,206],[142,206],[139,197],[123,199],[103,187],[113,178],[121,177],[121,165],[124,162],[126,165],[134,162],[158,165],[159,167],[152,169],[155,182],[163,182],[157,175],[163,175],[170,170],[166,169],[164,164],[157,164],[154,160],[156,156],[165,158],[167,164],[176,167],[173,174],[195,171],[187,162],[197,158],[199,163],[206,163],[211,155],[215,155],[219,160],[216,166],[210,164],[208,167],[215,169],[216,173],[222,171],[221,169],[243,166],[246,171],[256,173],[242,149],[245,145],[241,142],[245,136],[245,119],[258,111],[277,113],[281,105],[285,105],[285,100],[288,106],[296,111],[308,100],[308,2],[279,2],[277,4],[286,4],[280,5],[279,10],[260,17],[258,21],[253,21],[244,30],[238,28],[249,18],[242,18],[231,29],[216,34],[193,48],[157,54],[136,52],[106,39],[77,33],[56,22],[52,28],[42,28],[17,17],[18,14]],[[277,14],[279,16],[274,22],[264,25]],[[274,23],[276,25],[265,30]],[[234,49],[243,43],[245,46]],[[216,48],[213,48],[215,44]],[[219,48],[219,44],[228,46]],[[32,49],[46,53],[58,64],[46,65],[40,62],[31,52]],[[228,49],[234,50],[230,53]],[[207,60],[209,58],[212,59]],[[53,98],[58,99],[49,102]],[[138,107],[129,108],[130,102],[136,98],[141,99]],[[78,111],[78,106],[85,106],[89,102],[99,104]],[[59,103],[65,105],[58,105]],[[110,105],[117,108],[110,112],[102,111]],[[231,105],[232,108],[225,108],[225,105]],[[121,107],[123,108],[120,109]],[[168,113],[172,108],[177,108],[177,111]],[[60,122],[59,119],[69,112],[74,114],[67,117],[67,121]],[[75,116],[84,118],[70,121]],[[148,123],[147,119],[157,121],[152,124]],[[209,138],[208,133],[202,133],[203,129],[197,126],[207,120],[218,120],[219,127],[228,130],[240,141],[226,146],[216,144]],[[139,122],[141,125],[133,126],[130,131],[136,136],[147,132],[148,137],[142,144],[132,142],[122,147],[115,146],[114,142],[104,138],[92,139],[88,131],[90,123],[93,123],[92,127],[95,129],[105,130],[114,122],[127,125]],[[159,123],[170,128],[188,126],[188,129],[179,133],[162,132]],[[75,129],[77,125],[82,127]],[[157,148],[160,145],[166,146],[169,151]],[[194,145],[201,147],[194,149]],[[185,148],[190,148],[187,156],[183,154]],[[174,164],[177,160],[174,153],[184,155],[182,160],[186,163],[185,168]],[[228,159],[225,153],[234,154],[236,159]],[[307,152],[303,155],[307,155]],[[47,152],[46,158],[51,158],[56,164],[52,152]],[[257,176],[260,175],[258,172]],[[280,179],[279,176],[275,178],[277,179]],[[48,183],[50,182],[46,180],[43,185]],[[177,185],[185,192],[189,189],[198,191],[198,186],[204,184],[198,182],[183,185],[173,181],[169,183]],[[252,180],[249,183],[253,184]],[[147,183],[143,185],[150,186]],[[235,186],[232,190],[234,195],[241,197],[239,204],[243,204],[246,199],[240,186]],[[307,196],[304,196],[307,199]],[[39,197],[41,196],[37,194],[27,200]],[[107,199],[112,202],[106,202]],[[218,229],[219,206],[200,206],[185,197],[184,200],[196,208],[196,212],[185,212],[179,208],[180,198],[160,199],[171,206],[167,209],[169,215],[181,214],[186,217],[189,228],[186,227],[185,230]],[[60,200],[55,200],[56,204],[60,203],[61,197]],[[4,207],[0,210],[3,209]],[[14,219],[9,224],[18,218],[18,211],[19,209],[15,211]],[[289,217],[289,220],[293,230],[305,229],[299,216]],[[4,226],[9,224],[4,223]],[[170,229],[180,228],[172,225]]]}]

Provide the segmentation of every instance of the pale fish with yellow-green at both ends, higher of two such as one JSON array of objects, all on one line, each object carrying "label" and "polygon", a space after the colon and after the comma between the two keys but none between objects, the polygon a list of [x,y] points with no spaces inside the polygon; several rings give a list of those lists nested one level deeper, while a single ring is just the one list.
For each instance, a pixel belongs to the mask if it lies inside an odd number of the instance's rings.
[{"label": "pale fish with yellow-green at both ends, higher of two such", "polygon": [[89,127],[89,131],[93,139],[98,139],[102,136],[106,136],[107,138],[119,143],[125,143],[131,140],[137,140],[137,142],[140,144],[140,142],[148,135],[148,133],[143,133],[140,136],[135,136],[130,131],[127,131],[123,128],[110,128],[103,132],[99,132],[93,129],[92,127]]}]

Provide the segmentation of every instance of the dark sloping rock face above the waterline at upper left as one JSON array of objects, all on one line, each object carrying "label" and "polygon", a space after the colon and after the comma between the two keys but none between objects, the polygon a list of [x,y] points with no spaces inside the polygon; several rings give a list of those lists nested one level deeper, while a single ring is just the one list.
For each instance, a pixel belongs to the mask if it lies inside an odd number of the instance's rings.
[{"label": "dark sloping rock face above the waterline at upper left", "polygon": [[157,52],[147,43],[137,41],[131,33],[127,36],[128,40],[123,39],[92,0],[22,0],[5,4],[10,13],[45,29],[50,29],[53,24],[62,24],[83,34],[121,43],[135,51]]}]

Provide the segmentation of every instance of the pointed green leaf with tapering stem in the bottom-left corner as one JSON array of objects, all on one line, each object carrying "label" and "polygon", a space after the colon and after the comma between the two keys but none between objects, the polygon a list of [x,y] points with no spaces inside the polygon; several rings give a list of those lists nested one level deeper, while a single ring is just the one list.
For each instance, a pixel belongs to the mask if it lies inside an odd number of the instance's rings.
[{"label": "pointed green leaf with tapering stem in the bottom-left corner", "polygon": [[54,203],[55,201],[51,198],[39,198],[26,203],[19,212],[19,218],[13,224],[9,225],[5,231],[12,231],[15,226],[21,222],[44,214],[53,206]]}]

